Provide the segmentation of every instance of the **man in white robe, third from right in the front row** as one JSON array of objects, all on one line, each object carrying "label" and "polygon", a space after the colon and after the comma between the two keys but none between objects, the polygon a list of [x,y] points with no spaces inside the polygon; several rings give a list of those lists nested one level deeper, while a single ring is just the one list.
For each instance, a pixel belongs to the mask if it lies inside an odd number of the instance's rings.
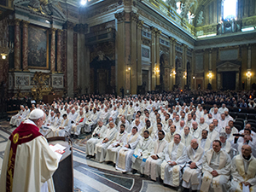
[{"label": "man in white robe, third from right in the front row", "polygon": [[196,139],[192,139],[190,146],[187,147],[187,164],[183,169],[183,192],[200,190],[201,187],[201,166],[202,157],[205,151],[201,148]]}]

